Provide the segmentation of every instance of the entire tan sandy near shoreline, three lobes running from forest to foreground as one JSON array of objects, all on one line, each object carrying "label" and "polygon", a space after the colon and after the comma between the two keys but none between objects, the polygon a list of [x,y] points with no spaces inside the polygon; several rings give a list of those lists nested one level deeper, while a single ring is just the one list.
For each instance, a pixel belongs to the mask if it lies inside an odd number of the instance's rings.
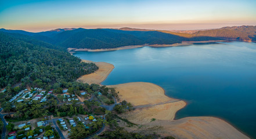
[{"label": "entire tan sandy near shoreline, three lobes running from forest to foreground", "polygon": [[[82,76],[78,79],[79,82],[100,84],[114,68],[114,65],[109,63],[95,64],[99,66],[99,70]],[[120,123],[120,126],[128,131],[146,134],[154,132],[175,138],[248,138],[219,118],[197,116],[174,120],[176,112],[185,107],[185,101],[166,96],[164,89],[153,83],[132,82],[108,87],[115,87],[117,92],[120,92],[118,94],[120,101],[126,100],[136,108],[134,111],[120,115],[140,125],[127,127]]]}]

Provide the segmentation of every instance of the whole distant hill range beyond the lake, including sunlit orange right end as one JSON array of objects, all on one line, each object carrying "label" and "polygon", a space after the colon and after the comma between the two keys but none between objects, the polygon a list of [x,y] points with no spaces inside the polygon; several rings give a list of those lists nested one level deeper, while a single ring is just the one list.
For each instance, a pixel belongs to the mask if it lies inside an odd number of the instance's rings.
[{"label": "whole distant hill range beyond the lake, including sunlit orange right end", "polygon": [[[58,28],[45,32],[27,32],[22,30],[5,30],[11,34],[23,34],[24,38],[47,42],[51,45],[67,49],[87,48],[104,49],[129,45],[166,45],[182,41],[210,41],[232,39],[237,41],[256,41],[256,26],[243,25],[240,27],[223,27],[213,30],[172,32],[164,30],[145,30],[139,28],[120,29],[84,29]],[[189,32],[189,33],[186,33]],[[16,35],[16,37],[21,37]]]}]

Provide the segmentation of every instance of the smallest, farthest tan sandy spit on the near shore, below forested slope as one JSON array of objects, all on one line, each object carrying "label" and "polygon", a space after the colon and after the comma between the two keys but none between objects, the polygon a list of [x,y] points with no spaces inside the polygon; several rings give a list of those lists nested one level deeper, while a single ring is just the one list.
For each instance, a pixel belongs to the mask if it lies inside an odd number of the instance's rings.
[{"label": "smallest, farthest tan sandy spit on the near shore, below forested slope", "polygon": [[78,82],[82,82],[82,83],[100,84],[107,78],[107,75],[109,75],[110,72],[114,69],[114,65],[109,64],[109,63],[92,62],[89,60],[82,60],[82,62],[95,63],[99,67],[99,69],[96,72],[94,72],[93,74],[83,75],[77,79]]}]

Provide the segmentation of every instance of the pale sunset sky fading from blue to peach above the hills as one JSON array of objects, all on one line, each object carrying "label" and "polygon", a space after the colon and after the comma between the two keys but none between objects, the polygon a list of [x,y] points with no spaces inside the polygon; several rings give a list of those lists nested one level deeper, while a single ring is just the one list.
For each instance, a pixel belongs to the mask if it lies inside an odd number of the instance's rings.
[{"label": "pale sunset sky fading from blue to peach above the hills", "polygon": [[256,25],[256,0],[0,1],[0,28],[145,28],[201,30]]}]

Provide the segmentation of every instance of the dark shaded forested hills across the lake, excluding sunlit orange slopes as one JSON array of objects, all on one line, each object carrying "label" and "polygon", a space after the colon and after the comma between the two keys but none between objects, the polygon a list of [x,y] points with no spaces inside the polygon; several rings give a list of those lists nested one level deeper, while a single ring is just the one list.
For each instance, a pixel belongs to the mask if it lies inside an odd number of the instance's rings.
[{"label": "dark shaded forested hills across the lake, excluding sunlit orange slopes", "polygon": [[25,31],[10,31],[1,29],[4,32],[15,32],[28,35],[39,41],[51,43],[53,46],[88,49],[113,48],[128,45],[144,44],[172,44],[181,43],[182,41],[208,41],[219,38],[213,37],[193,37],[186,38],[179,35],[167,34],[160,31],[122,31],[113,29],[90,29],[77,28],[67,31],[46,31],[38,33],[29,33]]}]

